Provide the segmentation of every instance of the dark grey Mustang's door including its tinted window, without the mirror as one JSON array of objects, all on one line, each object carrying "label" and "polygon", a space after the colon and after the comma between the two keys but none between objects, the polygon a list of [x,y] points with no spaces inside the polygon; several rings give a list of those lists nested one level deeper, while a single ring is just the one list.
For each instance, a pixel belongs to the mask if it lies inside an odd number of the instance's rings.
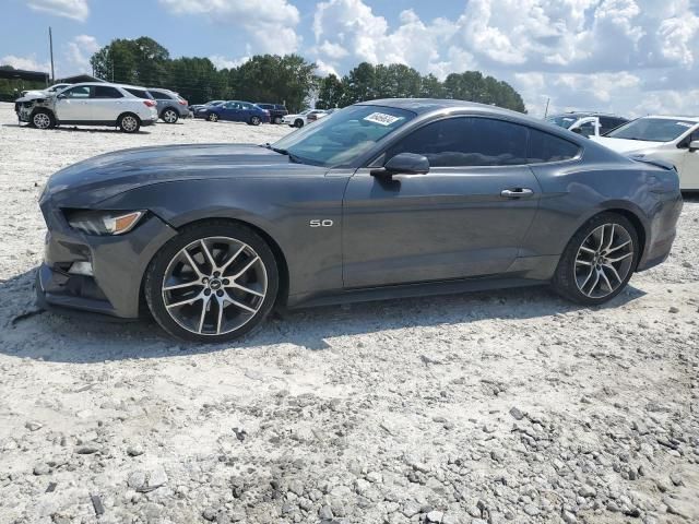
[{"label": "dark grey Mustang's door including its tinted window, without the mirror", "polygon": [[526,145],[523,126],[451,117],[399,139],[381,157],[425,155],[428,174],[386,180],[358,169],[343,204],[345,287],[507,272],[541,195]]}]

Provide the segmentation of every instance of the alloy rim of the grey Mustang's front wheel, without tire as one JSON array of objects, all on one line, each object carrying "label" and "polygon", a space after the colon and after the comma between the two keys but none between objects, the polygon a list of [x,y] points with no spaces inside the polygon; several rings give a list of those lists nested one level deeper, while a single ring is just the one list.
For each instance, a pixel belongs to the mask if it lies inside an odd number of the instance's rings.
[{"label": "alloy rim of the grey Mustang's front wheel, without tire", "polygon": [[266,297],[266,269],[247,243],[229,237],[194,240],[175,254],[163,277],[165,309],[198,335],[225,335],[247,324]]}]

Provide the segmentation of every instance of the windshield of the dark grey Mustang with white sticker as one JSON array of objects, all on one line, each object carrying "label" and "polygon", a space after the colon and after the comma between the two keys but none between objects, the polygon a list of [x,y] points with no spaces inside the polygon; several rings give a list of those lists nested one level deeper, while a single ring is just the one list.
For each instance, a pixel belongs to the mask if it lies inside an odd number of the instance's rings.
[{"label": "windshield of the dark grey Mustang with white sticker", "polygon": [[284,136],[273,148],[304,164],[340,166],[366,153],[415,116],[394,107],[350,106]]}]

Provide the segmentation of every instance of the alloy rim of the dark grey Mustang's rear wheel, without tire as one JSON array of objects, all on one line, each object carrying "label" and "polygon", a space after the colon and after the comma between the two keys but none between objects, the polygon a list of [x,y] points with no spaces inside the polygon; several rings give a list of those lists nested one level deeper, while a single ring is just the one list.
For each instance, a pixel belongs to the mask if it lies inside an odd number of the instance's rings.
[{"label": "alloy rim of the dark grey Mustang's rear wheel, without tire", "polygon": [[633,240],[619,224],[603,224],[583,240],[576,257],[576,285],[589,298],[616,291],[631,271]]}]

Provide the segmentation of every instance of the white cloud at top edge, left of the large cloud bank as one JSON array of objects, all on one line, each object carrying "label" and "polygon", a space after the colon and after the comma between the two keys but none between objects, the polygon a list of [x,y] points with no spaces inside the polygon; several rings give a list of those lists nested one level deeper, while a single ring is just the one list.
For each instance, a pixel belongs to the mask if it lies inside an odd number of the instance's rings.
[{"label": "white cloud at top edge, left of the large cloud bank", "polygon": [[256,52],[295,52],[301,38],[296,34],[298,9],[287,0],[159,0],[178,15],[205,16],[213,23],[246,29]]}]

